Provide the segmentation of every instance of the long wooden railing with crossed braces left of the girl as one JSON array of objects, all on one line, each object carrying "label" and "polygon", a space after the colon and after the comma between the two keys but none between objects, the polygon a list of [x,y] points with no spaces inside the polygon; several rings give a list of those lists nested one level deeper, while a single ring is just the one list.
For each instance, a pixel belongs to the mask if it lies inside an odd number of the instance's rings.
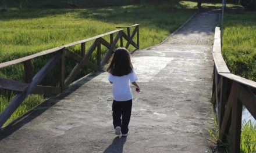
[{"label": "long wooden railing with crossed braces left of the girl", "polygon": [[[2,111],[0,114],[0,128],[3,124],[8,120],[8,118],[15,112],[15,110],[19,107],[19,105],[26,99],[27,96],[31,93],[40,93],[40,94],[58,94],[61,93],[62,90],[67,88],[74,81],[74,78],[79,73],[81,68],[88,67],[95,71],[98,71],[101,67],[103,67],[108,61],[109,57],[115,50],[118,41],[120,40],[120,46],[123,46],[123,38],[126,39],[127,43],[125,48],[128,48],[129,45],[133,45],[134,48],[139,49],[139,25],[134,24],[129,27],[119,27],[119,28],[127,28],[127,34],[123,31],[123,29],[118,29],[115,31],[107,32],[105,34],[97,35],[93,38],[84,39],[82,41],[73,42],[67,45],[59,46],[56,48],[48,49],[40,53],[32,54],[30,56],[22,57],[20,59],[7,61],[5,63],[0,64],[0,68],[8,67],[10,65],[23,63],[24,64],[24,74],[25,74],[25,82],[15,81],[12,79],[6,79],[0,77],[0,88],[14,90],[16,92],[20,92],[17,94],[15,99],[13,99],[9,105]],[[130,28],[133,27],[133,31],[130,31]],[[130,33],[131,32],[131,33]],[[116,37],[113,38],[114,34]],[[137,34],[137,43],[133,41],[134,36]],[[103,37],[109,35],[109,42],[106,41]],[[86,51],[86,42],[94,41],[93,45]],[[67,49],[70,46],[81,45],[80,54],[76,54]],[[101,59],[101,45],[106,46],[108,49],[104,54],[104,57]],[[89,57],[93,54],[94,50],[97,49],[97,64],[94,64],[89,60]],[[32,77],[31,71],[31,60],[36,57],[44,56],[46,54],[56,53],[54,57],[52,57],[45,65],[41,68],[37,74]],[[77,64],[74,66],[73,70],[70,74],[65,77],[65,57],[76,61]],[[42,79],[48,74],[49,71],[57,64],[60,65],[60,85],[56,86],[39,86],[38,83],[42,81]]]}]

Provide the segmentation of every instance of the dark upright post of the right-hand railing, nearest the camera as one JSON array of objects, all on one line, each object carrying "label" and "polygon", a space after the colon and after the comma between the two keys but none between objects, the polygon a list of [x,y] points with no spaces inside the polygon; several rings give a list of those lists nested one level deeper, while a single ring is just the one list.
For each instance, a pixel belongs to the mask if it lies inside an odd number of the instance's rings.
[{"label": "dark upright post of the right-hand railing, nearest the camera", "polygon": [[[236,83],[236,82],[234,82]],[[232,101],[230,152],[240,152],[242,104],[238,99],[240,85],[236,83],[235,99]]]}]

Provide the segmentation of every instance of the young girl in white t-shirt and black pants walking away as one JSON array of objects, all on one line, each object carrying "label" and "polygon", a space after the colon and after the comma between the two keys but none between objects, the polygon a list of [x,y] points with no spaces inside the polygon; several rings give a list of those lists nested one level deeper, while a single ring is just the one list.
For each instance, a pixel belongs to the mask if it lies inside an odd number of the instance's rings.
[{"label": "young girl in white t-shirt and black pants walking away", "polygon": [[136,83],[136,73],[131,64],[130,53],[126,48],[115,50],[107,71],[109,72],[108,80],[112,84],[112,115],[115,134],[120,135],[122,132],[122,136],[127,136],[133,99],[130,82],[136,87],[136,92],[140,92],[140,87]]}]

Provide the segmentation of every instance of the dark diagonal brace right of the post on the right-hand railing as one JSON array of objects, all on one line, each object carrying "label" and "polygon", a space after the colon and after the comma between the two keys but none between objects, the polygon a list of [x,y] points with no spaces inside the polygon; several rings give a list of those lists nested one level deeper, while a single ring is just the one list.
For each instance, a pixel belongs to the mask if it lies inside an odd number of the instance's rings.
[{"label": "dark diagonal brace right of the post on the right-hand railing", "polygon": [[256,96],[247,86],[240,87],[239,100],[256,119]]}]

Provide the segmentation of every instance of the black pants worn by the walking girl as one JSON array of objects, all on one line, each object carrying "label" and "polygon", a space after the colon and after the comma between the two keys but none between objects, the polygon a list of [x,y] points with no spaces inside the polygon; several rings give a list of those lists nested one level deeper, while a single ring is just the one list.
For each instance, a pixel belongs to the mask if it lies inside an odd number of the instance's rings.
[{"label": "black pants worn by the walking girl", "polygon": [[[128,133],[128,125],[131,118],[131,105],[132,100],[127,101],[115,101],[113,100],[112,111],[113,111],[113,125],[121,127],[123,134]],[[122,116],[122,119],[121,119]]]}]

